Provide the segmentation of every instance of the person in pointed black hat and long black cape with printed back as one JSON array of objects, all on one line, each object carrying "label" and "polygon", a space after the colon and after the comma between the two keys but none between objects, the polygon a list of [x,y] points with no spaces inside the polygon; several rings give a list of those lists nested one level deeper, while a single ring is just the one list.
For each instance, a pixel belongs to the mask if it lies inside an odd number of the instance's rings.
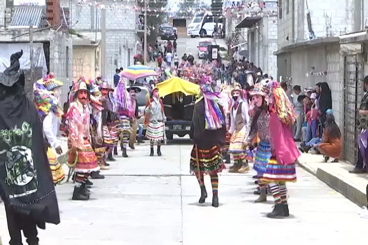
[{"label": "person in pointed black hat and long black cape with printed back", "polygon": [[23,52],[11,55],[0,72],[0,195],[5,204],[11,245],[38,244],[37,228],[59,224],[59,209],[37,110],[24,91],[19,72]]}]

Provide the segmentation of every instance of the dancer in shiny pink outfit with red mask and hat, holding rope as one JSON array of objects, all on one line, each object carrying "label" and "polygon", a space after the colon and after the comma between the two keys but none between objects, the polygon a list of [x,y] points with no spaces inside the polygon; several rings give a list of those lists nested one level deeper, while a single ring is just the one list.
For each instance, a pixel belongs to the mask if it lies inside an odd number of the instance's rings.
[{"label": "dancer in shiny pink outfit with red mask and hat, holding rope", "polygon": [[66,118],[68,121],[68,146],[71,149],[68,155],[68,162],[75,165],[76,186],[73,192],[73,200],[89,200],[89,190],[87,189],[88,177],[91,173],[98,173],[100,169],[96,154],[91,146],[91,136],[89,132],[90,92],[83,78],[79,78],[74,84],[69,94],[70,104]]}]

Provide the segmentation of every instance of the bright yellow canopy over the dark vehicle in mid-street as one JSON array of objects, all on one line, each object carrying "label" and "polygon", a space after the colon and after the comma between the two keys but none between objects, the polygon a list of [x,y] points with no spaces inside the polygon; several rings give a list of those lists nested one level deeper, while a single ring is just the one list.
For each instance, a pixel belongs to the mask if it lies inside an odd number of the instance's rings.
[{"label": "bright yellow canopy over the dark vehicle in mid-street", "polygon": [[164,82],[157,84],[156,88],[158,89],[160,97],[164,97],[175,92],[182,92],[185,95],[199,94],[199,85],[178,77],[165,80]]}]

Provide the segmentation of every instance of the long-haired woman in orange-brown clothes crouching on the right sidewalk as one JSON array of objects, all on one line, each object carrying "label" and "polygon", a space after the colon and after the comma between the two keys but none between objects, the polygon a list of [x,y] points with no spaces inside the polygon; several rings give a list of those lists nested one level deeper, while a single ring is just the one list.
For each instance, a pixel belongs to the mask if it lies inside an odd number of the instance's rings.
[{"label": "long-haired woman in orange-brown clothes crouching on the right sidewalk", "polygon": [[341,156],[342,142],[341,132],[335,122],[333,114],[327,113],[324,138],[318,145],[318,151],[325,156],[327,162],[330,157],[334,158],[333,162],[338,162]]}]

